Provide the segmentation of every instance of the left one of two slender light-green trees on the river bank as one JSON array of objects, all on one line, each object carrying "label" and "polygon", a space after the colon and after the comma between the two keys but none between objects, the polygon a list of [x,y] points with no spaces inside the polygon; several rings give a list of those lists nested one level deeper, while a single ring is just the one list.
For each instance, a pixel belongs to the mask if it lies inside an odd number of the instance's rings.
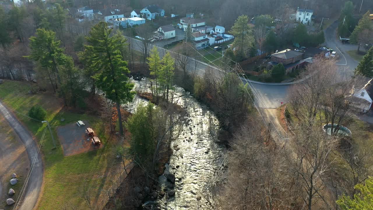
[{"label": "left one of two slender light-green trees on the river bank", "polygon": [[[161,68],[161,60],[159,58],[159,52],[158,48],[156,46],[153,47],[150,51],[150,56],[147,58],[148,62],[147,64],[149,65],[149,70],[150,70],[150,75],[154,76],[154,84],[152,82],[151,84],[151,92],[153,93],[156,98],[159,97],[159,92],[158,92],[158,77],[159,77],[159,71]],[[155,85],[155,87],[154,87]]]}]

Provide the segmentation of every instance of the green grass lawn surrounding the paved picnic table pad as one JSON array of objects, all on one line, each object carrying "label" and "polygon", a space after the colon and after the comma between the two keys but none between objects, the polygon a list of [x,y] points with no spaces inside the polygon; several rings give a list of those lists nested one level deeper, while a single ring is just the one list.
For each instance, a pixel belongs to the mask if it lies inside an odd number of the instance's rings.
[{"label": "green grass lawn surrounding the paved picnic table pad", "polygon": [[[52,149],[51,136],[47,132],[41,147],[44,161],[44,187],[37,209],[63,209],[66,204],[76,206],[76,209],[88,209],[81,198],[83,186],[87,185],[91,188],[93,200],[101,201],[105,196],[104,189],[111,185],[110,177],[117,175],[116,169],[120,163],[115,160],[111,152],[115,140],[105,132],[105,126],[97,116],[67,111],[62,108],[59,99],[55,96],[48,93],[32,95],[28,91],[29,83],[5,80],[4,84],[1,84],[0,98],[8,108],[22,114],[27,115],[31,106],[36,104],[47,111],[46,120],[52,126],[57,149]],[[39,143],[46,124],[30,121],[29,118],[16,112],[15,115],[34,134]],[[65,121],[62,122],[61,118],[65,118]],[[105,146],[99,150],[64,157],[56,128],[77,120],[89,121]]]}]

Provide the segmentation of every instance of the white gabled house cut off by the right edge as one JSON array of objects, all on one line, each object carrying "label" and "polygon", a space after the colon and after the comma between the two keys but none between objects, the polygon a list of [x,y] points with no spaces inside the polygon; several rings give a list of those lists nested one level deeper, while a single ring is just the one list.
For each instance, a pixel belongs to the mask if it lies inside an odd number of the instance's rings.
[{"label": "white gabled house cut off by the right edge", "polygon": [[373,85],[372,78],[357,76],[358,80],[361,81],[362,85],[352,87],[351,95],[351,105],[353,109],[366,113],[372,108],[373,100]]}]

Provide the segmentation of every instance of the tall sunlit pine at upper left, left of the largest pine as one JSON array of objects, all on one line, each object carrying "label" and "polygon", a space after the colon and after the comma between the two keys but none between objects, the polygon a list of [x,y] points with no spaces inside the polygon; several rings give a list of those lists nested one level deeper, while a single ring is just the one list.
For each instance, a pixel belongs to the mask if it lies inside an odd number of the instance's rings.
[{"label": "tall sunlit pine at upper left, left of the largest pine", "polygon": [[64,49],[60,47],[61,41],[56,39],[56,33],[53,31],[38,28],[36,36],[30,37],[31,55],[26,56],[33,61],[38,61],[41,67],[47,68],[51,85],[54,92],[57,89],[57,82],[61,84],[58,68],[59,65],[64,65],[66,55]]}]

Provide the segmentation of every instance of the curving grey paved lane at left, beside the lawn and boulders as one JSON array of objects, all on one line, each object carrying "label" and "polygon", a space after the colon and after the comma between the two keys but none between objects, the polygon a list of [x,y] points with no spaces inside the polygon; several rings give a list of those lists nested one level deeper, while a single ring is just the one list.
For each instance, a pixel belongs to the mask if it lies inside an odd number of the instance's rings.
[{"label": "curving grey paved lane at left, beside the lawn and boulders", "polygon": [[[8,121],[9,125],[15,130],[15,132],[25,145],[28,158],[30,160],[30,165],[32,166],[32,164],[34,164],[32,173],[26,186],[25,193],[23,194],[23,201],[19,204],[18,208],[18,210],[32,210],[37,203],[41,191],[41,184],[43,182],[43,163],[41,160],[41,155],[36,155],[38,146],[32,139],[32,135],[22,126],[22,124],[1,102],[0,113]],[[18,195],[16,198],[18,198]]]}]

